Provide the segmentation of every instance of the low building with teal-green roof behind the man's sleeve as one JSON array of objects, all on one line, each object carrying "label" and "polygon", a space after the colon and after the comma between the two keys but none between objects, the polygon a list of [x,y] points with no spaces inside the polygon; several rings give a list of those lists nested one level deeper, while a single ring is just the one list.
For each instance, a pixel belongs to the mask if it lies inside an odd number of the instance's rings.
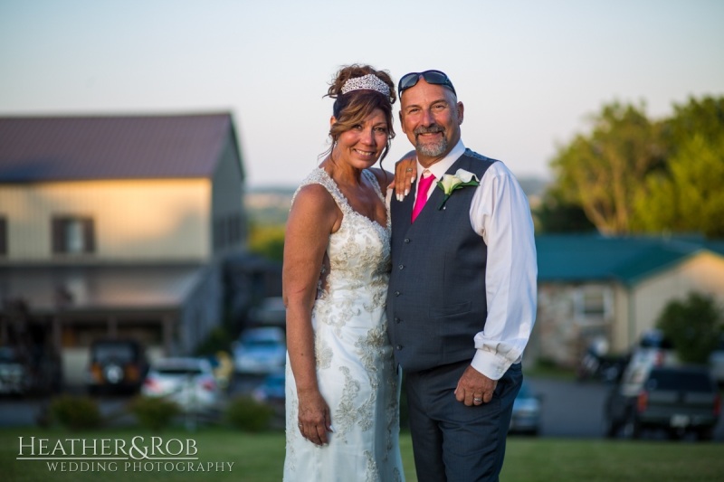
[{"label": "low building with teal-green roof behind the man's sleeve", "polygon": [[530,351],[575,364],[595,338],[625,353],[690,292],[724,306],[724,242],[702,236],[536,237],[538,317]]}]

